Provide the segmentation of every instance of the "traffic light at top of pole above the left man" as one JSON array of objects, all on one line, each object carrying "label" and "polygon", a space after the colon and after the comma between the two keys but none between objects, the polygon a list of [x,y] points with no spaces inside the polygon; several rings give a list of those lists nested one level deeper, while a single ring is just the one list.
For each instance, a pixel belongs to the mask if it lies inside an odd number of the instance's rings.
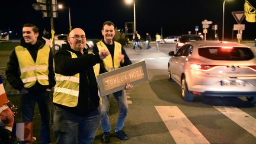
[{"label": "traffic light at top of pole above the left man", "polygon": [[57,0],[36,0],[37,3],[33,4],[32,7],[36,11],[41,11],[43,17],[57,17]]}]

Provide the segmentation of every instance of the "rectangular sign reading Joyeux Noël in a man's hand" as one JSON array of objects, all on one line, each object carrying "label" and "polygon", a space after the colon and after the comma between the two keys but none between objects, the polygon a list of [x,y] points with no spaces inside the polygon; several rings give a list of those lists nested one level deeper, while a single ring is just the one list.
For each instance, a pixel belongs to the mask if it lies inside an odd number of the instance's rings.
[{"label": "rectangular sign reading Joyeux No\u00ebl in a man's hand", "polygon": [[97,77],[100,93],[103,96],[124,89],[126,84],[137,85],[145,81],[148,81],[145,61],[102,73]]}]

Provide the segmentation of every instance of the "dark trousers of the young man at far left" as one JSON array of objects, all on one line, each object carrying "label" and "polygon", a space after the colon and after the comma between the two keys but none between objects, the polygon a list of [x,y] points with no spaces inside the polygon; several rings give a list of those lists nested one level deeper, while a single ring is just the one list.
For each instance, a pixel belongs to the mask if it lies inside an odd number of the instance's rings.
[{"label": "dark trousers of the young man at far left", "polygon": [[49,91],[28,92],[28,94],[21,95],[23,122],[33,121],[36,103],[41,116],[41,143],[50,143],[50,105],[52,104],[52,98]]}]

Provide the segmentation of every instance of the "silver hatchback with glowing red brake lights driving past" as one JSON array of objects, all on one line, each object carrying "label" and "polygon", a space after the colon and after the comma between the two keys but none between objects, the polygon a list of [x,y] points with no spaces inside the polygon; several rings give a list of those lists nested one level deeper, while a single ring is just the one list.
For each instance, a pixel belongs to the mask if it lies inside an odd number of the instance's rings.
[{"label": "silver hatchback with glowing red brake lights driving past", "polygon": [[181,85],[185,101],[196,95],[244,96],[256,103],[256,57],[244,44],[189,41],[169,55],[168,79]]}]

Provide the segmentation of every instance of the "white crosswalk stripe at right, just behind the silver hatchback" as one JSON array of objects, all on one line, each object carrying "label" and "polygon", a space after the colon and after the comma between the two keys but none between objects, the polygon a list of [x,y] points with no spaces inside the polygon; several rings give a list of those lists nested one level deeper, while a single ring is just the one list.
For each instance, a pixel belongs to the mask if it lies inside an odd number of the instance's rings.
[{"label": "white crosswalk stripe at right, just behind the silver hatchback", "polygon": [[214,106],[226,117],[256,137],[256,119],[236,107]]}]

